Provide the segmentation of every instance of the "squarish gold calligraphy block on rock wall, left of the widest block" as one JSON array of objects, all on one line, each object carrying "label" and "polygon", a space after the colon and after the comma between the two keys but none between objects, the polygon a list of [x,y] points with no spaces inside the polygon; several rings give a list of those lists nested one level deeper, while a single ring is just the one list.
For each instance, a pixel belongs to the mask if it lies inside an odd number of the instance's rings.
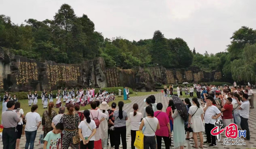
[{"label": "squarish gold calligraphy block on rock wall, left of the widest block", "polygon": [[30,62],[19,62],[16,81],[18,84],[28,83],[29,80],[38,80],[37,64]]}]

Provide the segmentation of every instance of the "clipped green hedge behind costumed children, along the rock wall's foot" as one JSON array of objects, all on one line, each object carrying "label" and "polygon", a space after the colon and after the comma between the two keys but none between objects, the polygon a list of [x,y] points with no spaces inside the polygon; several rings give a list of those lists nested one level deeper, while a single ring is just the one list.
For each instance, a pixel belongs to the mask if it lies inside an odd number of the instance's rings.
[{"label": "clipped green hedge behind costumed children, along the rock wall's foot", "polygon": [[[106,90],[109,93],[114,92],[114,94],[118,95],[118,89],[121,89],[121,95],[123,95],[124,92],[124,87],[113,87],[113,88],[102,88],[102,90]],[[48,94],[50,93],[48,90],[46,90],[48,92]],[[63,90],[61,90],[62,93]],[[84,89],[84,93],[85,93],[86,89]],[[76,90],[75,90],[76,92]],[[58,90],[52,90],[52,94],[53,94],[53,98],[56,98],[56,95],[58,93]],[[99,94],[99,89],[95,89],[94,93],[98,93]],[[129,93],[133,94],[133,91],[131,88],[129,88]],[[22,100],[22,99],[28,99],[28,92],[10,92],[11,96],[12,95],[16,95],[16,97],[18,98],[18,100]],[[31,94],[34,94],[34,91],[31,91]],[[42,91],[37,91],[38,94],[38,99],[41,99],[41,94]],[[4,98],[4,93],[0,93],[1,96],[1,101],[3,101]]]}]

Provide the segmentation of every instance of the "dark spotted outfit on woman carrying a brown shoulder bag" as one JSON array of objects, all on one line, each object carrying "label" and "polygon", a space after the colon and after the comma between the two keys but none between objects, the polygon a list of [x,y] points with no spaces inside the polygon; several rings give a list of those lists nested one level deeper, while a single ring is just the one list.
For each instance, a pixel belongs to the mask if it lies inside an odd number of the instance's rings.
[{"label": "dark spotted outfit on woman carrying a brown shoulder bag", "polygon": [[64,132],[63,132],[63,139],[62,139],[62,149],[68,149],[69,144],[73,149],[78,149],[78,144],[73,144],[72,137],[78,134],[77,128],[78,123],[80,123],[80,117],[77,113],[64,114],[61,119],[60,123],[64,124]]}]

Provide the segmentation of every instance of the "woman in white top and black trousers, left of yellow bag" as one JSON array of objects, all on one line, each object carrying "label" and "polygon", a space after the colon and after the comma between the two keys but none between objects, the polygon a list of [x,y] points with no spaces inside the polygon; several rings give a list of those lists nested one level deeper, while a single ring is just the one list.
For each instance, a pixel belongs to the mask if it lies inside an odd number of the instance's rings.
[{"label": "woman in white top and black trousers, left of yellow bag", "polygon": [[140,128],[140,120],[142,118],[142,114],[138,112],[139,105],[137,103],[133,104],[133,112],[130,113],[130,119],[131,119],[131,147],[132,149],[135,149],[134,142],[136,138],[136,131]]}]

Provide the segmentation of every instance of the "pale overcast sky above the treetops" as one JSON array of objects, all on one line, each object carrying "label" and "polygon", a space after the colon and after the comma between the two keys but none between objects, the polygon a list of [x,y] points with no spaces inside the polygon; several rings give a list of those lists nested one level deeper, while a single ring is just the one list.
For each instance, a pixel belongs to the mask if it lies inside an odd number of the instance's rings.
[{"label": "pale overcast sky above the treetops", "polygon": [[138,41],[160,30],[201,54],[225,51],[241,26],[256,29],[255,0],[0,0],[0,14],[20,25],[29,18],[53,19],[64,3],[78,17],[86,14],[104,38]]}]

